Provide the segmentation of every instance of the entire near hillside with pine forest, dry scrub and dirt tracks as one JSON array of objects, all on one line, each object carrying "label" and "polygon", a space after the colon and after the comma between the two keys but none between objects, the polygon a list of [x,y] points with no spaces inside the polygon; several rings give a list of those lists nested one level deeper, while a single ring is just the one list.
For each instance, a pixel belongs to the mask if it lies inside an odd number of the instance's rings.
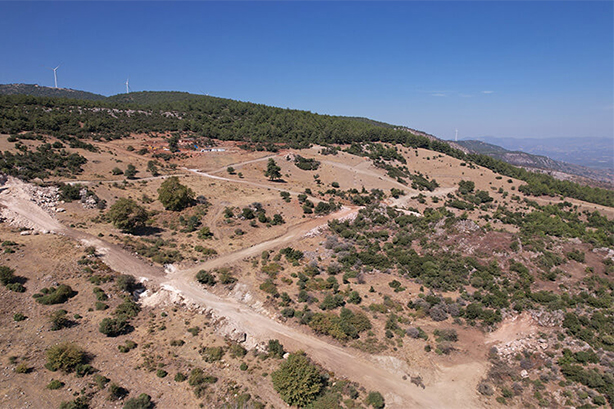
[{"label": "entire near hillside with pine forest, dry scrub and dirt tracks", "polygon": [[613,402],[612,191],[185,93],[0,97],[0,154],[0,406]]}]

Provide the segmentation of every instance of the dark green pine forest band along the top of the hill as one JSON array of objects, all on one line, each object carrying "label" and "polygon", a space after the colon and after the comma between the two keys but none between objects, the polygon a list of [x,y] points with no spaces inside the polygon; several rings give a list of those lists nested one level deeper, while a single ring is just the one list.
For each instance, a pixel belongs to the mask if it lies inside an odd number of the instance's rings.
[{"label": "dark green pine forest band along the top of the hill", "polygon": [[[49,134],[73,144],[81,139],[112,140],[145,132],[178,132],[218,140],[285,144],[293,148],[386,142],[445,153],[524,180],[527,185],[522,191],[527,194],[560,195],[614,206],[612,191],[559,181],[485,155],[466,155],[441,140],[416,135],[407,129],[390,128],[363,118],[318,115],[180,92],[140,92],[104,101],[78,102],[3,96],[0,97],[0,132]],[[8,170],[11,173],[10,166]]]}]

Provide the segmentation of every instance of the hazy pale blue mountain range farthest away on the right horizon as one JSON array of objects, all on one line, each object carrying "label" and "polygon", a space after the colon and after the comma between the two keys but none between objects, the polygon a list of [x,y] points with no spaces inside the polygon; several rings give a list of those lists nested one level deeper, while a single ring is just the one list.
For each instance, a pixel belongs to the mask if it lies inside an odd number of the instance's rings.
[{"label": "hazy pale blue mountain range farthest away on the right horizon", "polygon": [[554,160],[614,170],[614,138],[496,138],[477,140],[501,146],[511,151],[544,155]]}]

